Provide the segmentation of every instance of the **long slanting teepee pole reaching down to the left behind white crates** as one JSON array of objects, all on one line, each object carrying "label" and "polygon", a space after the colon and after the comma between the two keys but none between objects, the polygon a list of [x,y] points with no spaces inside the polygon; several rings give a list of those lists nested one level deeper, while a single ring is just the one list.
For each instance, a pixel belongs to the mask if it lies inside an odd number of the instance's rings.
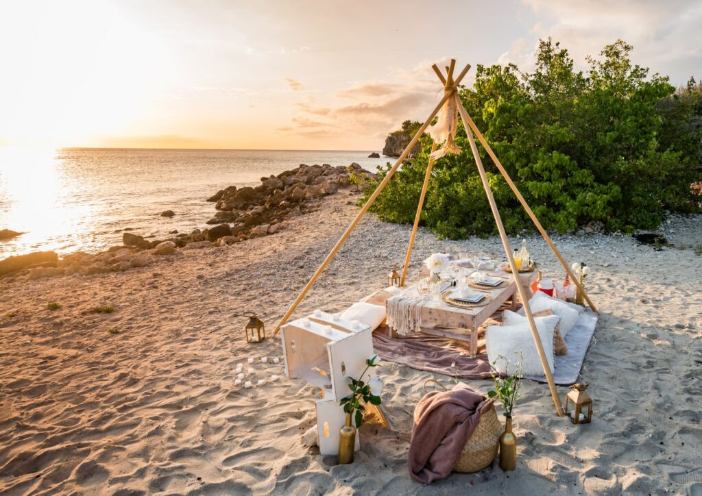
[{"label": "long slanting teepee pole reaching down to the left behind white crates", "polygon": [[329,252],[329,255],[326,255],[324,262],[322,262],[322,265],[319,266],[319,269],[317,269],[317,272],[314,272],[310,281],[307,282],[307,284],[305,284],[305,287],[300,292],[298,297],[295,299],[293,304],[291,304],[288,311],[285,312],[285,315],[283,316],[283,318],[280,319],[280,321],[277,323],[277,326],[275,326],[275,329],[273,330],[274,336],[278,334],[278,332],[280,330],[280,326],[282,326],[284,323],[286,323],[288,321],[290,316],[293,314],[293,311],[295,311],[295,309],[298,307],[298,304],[300,304],[300,302],[303,300],[305,295],[307,295],[307,291],[309,291],[310,288],[312,288],[312,285],[314,284],[314,282],[317,281],[317,279],[319,279],[319,276],[322,275],[322,272],[324,272],[324,269],[326,269],[326,266],[329,265],[329,262],[331,262],[334,255],[336,255],[336,252],[338,252],[338,250],[343,245],[344,241],[346,241],[348,236],[354,230],[356,225],[361,221],[363,216],[366,215],[366,212],[369,210],[369,208],[371,208],[371,205],[373,205],[373,202],[376,201],[376,198],[378,198],[378,195],[380,194],[380,192],[383,191],[383,188],[385,188],[385,185],[388,184],[388,181],[390,181],[390,178],[392,177],[392,175],[395,174],[395,171],[402,164],[402,162],[404,161],[406,156],[409,155],[409,152],[411,152],[414,145],[416,145],[420,136],[424,133],[424,130],[429,126],[429,124],[431,123],[432,119],[434,119],[436,114],[439,113],[439,110],[444,105],[444,102],[446,102],[446,100],[449,100],[451,95],[453,95],[454,93],[456,93],[456,88],[451,88],[451,91],[444,92],[443,98],[439,101],[439,104],[432,111],[429,118],[426,121],[424,121],[422,126],[417,130],[416,134],[414,135],[414,138],[412,138],[412,140],[409,142],[409,145],[407,145],[407,147],[404,149],[404,152],[402,152],[402,155],[399,156],[399,158],[397,159],[397,162],[395,162],[395,165],[392,166],[392,168],[390,168],[390,170],[388,170],[388,174],[386,174],[385,177],[383,178],[383,180],[380,182],[380,184],[376,188],[376,191],[374,191],[373,194],[371,195],[371,197],[368,199],[368,201],[366,201],[366,204],[363,206],[363,208],[361,208],[361,211],[356,215],[355,219],[351,222],[349,227],[347,227],[346,231],[341,236],[339,241],[337,241],[336,245],[334,245],[334,247],[331,248],[331,252]]}]

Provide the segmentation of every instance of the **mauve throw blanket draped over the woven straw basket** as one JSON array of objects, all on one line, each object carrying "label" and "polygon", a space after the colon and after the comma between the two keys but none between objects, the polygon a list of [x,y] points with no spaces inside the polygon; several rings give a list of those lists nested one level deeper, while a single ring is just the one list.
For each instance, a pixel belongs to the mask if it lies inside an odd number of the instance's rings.
[{"label": "mauve throw blanket draped over the woven straw basket", "polygon": [[430,484],[451,474],[466,441],[480,421],[482,395],[458,382],[451,391],[432,391],[414,409],[409,475]]}]

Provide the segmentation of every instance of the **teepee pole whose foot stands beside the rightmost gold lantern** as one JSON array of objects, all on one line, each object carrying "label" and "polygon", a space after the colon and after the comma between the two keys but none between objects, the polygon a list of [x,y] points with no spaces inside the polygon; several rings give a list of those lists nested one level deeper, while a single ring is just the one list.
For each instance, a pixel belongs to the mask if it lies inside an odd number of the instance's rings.
[{"label": "teepee pole whose foot stands beside the rightmost gold lantern", "polygon": [[[458,94],[453,93],[453,98],[459,100]],[[510,248],[510,240],[507,238],[507,233],[505,232],[505,227],[502,224],[502,218],[500,217],[500,211],[495,203],[494,196],[490,189],[490,182],[485,174],[485,169],[482,165],[482,160],[480,159],[480,154],[478,153],[478,147],[475,145],[475,140],[473,139],[473,134],[468,128],[467,118],[463,105],[461,102],[457,102],[458,112],[461,113],[461,119],[463,120],[463,127],[465,128],[465,133],[468,135],[468,141],[470,142],[470,149],[473,152],[473,157],[475,158],[475,163],[478,167],[478,172],[480,173],[480,179],[482,180],[483,187],[485,188],[485,193],[487,194],[487,199],[490,203],[490,209],[492,210],[492,215],[495,217],[495,222],[497,224],[497,229],[500,232],[500,238],[502,239],[502,244],[505,247],[505,254],[507,255],[507,260],[512,269],[512,276],[515,279],[515,284],[517,285],[517,291],[519,292],[519,297],[522,299],[524,304],[524,313],[527,315],[527,321],[529,321],[529,328],[531,329],[531,335],[534,337],[534,344],[536,344],[536,351],[538,351],[538,357],[541,359],[541,366],[543,366],[543,372],[546,375],[546,381],[548,382],[548,389],[551,391],[551,396],[553,398],[553,404],[556,407],[556,413],[559,417],[563,415],[563,407],[561,405],[561,400],[558,396],[558,390],[556,389],[556,384],[553,382],[553,375],[551,374],[551,369],[548,366],[548,360],[546,359],[546,354],[543,351],[543,344],[541,344],[541,337],[538,335],[538,330],[536,329],[536,322],[534,321],[534,315],[531,314],[531,308],[529,307],[529,298],[527,297],[527,292],[522,286],[522,281],[519,280],[519,269],[517,269],[517,264],[515,264],[515,259],[512,257],[512,249]]]}]

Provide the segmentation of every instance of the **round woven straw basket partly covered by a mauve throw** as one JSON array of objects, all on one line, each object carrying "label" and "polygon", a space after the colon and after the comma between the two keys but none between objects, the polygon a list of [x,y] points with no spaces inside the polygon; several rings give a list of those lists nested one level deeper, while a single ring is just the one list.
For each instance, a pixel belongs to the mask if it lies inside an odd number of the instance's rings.
[{"label": "round woven straw basket partly covered by a mauve throw", "polygon": [[453,465],[453,471],[463,474],[477,472],[495,460],[504,428],[497,418],[493,403],[494,399],[487,401],[480,410],[480,422],[465,443],[461,455]]}]

